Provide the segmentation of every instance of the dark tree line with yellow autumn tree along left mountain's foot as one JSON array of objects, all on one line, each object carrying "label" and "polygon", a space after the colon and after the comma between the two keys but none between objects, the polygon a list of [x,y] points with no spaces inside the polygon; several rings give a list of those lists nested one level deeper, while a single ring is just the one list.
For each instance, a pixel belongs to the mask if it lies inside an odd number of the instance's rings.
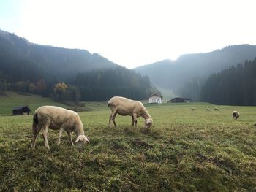
[{"label": "dark tree line with yellow autumn tree along left mountain's foot", "polygon": [[[29,71],[29,69],[27,69]],[[151,85],[148,76],[116,66],[113,69],[101,69],[78,73],[75,78],[58,82],[56,78],[26,77],[5,78],[0,73],[0,94],[4,91],[37,93],[53,97],[56,101],[107,101],[112,96],[126,96],[130,99],[146,99],[152,93],[159,93]],[[18,80],[18,81],[15,81]]]}]

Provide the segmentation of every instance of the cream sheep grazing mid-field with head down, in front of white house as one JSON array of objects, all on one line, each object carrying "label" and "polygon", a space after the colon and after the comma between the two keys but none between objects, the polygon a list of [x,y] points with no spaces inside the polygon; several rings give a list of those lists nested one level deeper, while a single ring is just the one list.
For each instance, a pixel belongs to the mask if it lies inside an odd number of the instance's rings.
[{"label": "cream sheep grazing mid-field with head down, in front of white house", "polygon": [[109,128],[111,120],[116,127],[116,114],[122,116],[132,116],[132,126],[137,126],[137,118],[139,118],[140,116],[145,119],[145,128],[150,128],[152,126],[153,120],[151,118],[151,115],[149,115],[148,111],[140,101],[134,101],[121,96],[114,96],[108,101],[108,107],[110,107],[112,111],[109,117]]}]

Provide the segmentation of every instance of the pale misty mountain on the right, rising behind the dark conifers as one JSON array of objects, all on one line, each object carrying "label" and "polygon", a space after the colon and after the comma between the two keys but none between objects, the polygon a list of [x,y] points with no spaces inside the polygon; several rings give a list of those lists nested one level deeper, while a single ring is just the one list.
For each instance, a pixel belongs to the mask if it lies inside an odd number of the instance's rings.
[{"label": "pale misty mountain on the right, rising behind the dark conifers", "polygon": [[163,60],[139,66],[135,71],[147,74],[157,87],[172,89],[177,93],[189,81],[206,78],[255,57],[255,45],[233,45],[210,53],[181,55],[176,61]]}]

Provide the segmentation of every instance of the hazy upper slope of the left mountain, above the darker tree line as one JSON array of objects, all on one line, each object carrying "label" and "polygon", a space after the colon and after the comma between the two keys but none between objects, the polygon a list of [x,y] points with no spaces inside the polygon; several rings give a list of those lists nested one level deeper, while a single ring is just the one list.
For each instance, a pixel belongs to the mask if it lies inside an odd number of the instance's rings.
[{"label": "hazy upper slope of the left mountain, above the darker tree line", "polygon": [[59,81],[67,80],[75,77],[78,72],[110,69],[117,66],[97,53],[36,45],[1,30],[0,62],[0,77],[4,74],[9,78],[8,81],[13,82],[24,79],[26,76],[31,76],[32,81],[39,76],[56,78]]}]

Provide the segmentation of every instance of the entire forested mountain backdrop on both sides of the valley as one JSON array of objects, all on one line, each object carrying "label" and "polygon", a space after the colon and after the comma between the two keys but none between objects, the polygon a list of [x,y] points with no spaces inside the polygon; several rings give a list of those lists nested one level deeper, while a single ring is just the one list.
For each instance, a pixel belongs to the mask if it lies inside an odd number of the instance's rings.
[{"label": "entire forested mountain backdrop on both sides of the valley", "polygon": [[234,45],[130,70],[97,53],[35,45],[0,30],[0,94],[37,93],[56,101],[106,101],[116,95],[142,100],[161,94],[159,86],[192,101],[256,105],[255,50]]}]

